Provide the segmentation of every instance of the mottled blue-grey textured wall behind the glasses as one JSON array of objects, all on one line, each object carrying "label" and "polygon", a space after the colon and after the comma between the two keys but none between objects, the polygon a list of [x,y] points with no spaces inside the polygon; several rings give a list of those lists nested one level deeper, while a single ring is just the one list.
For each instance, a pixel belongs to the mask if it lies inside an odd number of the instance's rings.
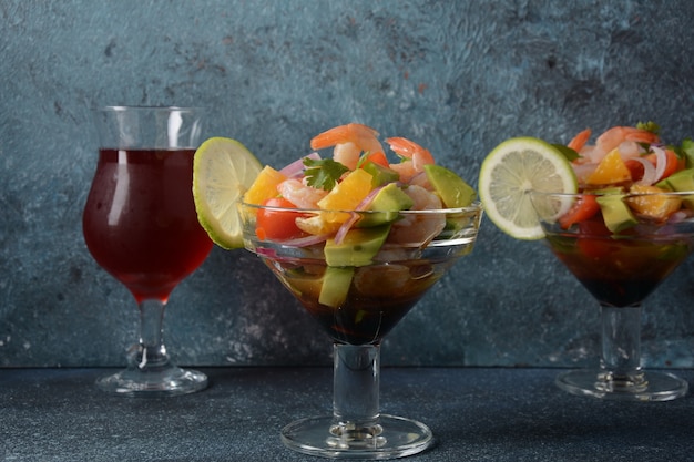
[{"label": "mottled blue-grey textured wall behind the glasses", "polygon": [[[358,121],[411,137],[477,184],[516,135],[654,120],[694,135],[694,2],[0,1],[0,366],[123,363],[129,292],[90,257],[81,211],[96,152],[90,110],[195,104],[207,136],[283,165]],[[649,366],[694,366],[694,263],[647,300]],[[329,363],[269,271],[215,248],[172,296],[184,365]],[[387,338],[389,365],[594,360],[595,302],[540,243],[484,223],[473,255]]]}]

